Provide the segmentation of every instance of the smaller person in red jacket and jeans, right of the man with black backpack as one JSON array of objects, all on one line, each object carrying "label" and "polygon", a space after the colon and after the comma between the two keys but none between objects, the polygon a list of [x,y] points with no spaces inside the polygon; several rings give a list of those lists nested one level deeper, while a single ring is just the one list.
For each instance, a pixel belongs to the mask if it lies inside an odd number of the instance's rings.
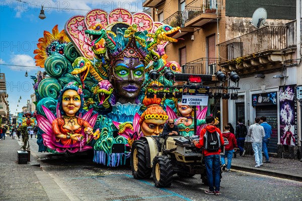
[{"label": "smaller person in red jacket and jeans, right of the man with black backpack", "polygon": [[[225,152],[224,155],[221,155],[221,165],[222,170],[225,170],[227,172],[231,172],[231,164],[232,164],[232,158],[234,153],[234,148],[237,148],[237,142],[234,133],[230,132],[230,126],[226,124],[224,126],[224,132],[222,133],[222,137],[228,139],[229,144],[224,147]],[[228,164],[225,165],[225,157],[228,158]]]}]

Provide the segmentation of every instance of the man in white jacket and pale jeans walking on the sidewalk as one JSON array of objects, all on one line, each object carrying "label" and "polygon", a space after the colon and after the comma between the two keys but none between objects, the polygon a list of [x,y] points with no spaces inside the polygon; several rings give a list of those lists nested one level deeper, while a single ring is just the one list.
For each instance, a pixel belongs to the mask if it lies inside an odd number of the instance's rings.
[{"label": "man in white jacket and pale jeans walking on the sidewalk", "polygon": [[262,138],[265,136],[264,128],[258,124],[259,122],[260,118],[256,117],[255,124],[251,125],[248,131],[255,152],[255,167],[262,166]]}]

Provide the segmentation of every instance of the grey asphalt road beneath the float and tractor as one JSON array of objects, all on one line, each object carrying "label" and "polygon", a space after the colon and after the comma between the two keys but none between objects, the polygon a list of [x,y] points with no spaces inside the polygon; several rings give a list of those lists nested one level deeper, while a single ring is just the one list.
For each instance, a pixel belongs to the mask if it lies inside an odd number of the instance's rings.
[{"label": "grey asphalt road beneath the float and tractor", "polygon": [[[32,149],[36,149],[31,145]],[[69,200],[301,200],[302,182],[237,171],[223,172],[220,195],[208,195],[200,175],[174,176],[172,186],[157,188],[153,179],[136,180],[130,167],[107,167],[92,162],[92,155],[36,153],[44,171],[37,171],[48,197]],[[46,180],[43,184],[43,179]],[[52,181],[51,182],[49,181]],[[57,186],[57,187],[56,187]],[[58,190],[54,190],[58,189]],[[53,194],[55,193],[55,194]],[[61,193],[58,194],[58,193]],[[62,198],[60,200],[65,200]],[[51,199],[50,199],[51,200]]]}]

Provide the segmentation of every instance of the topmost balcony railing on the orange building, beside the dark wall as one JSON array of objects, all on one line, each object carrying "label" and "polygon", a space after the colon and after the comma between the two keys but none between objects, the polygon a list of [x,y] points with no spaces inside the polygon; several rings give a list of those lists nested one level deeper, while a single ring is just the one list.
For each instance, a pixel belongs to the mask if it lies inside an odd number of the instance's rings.
[{"label": "topmost balcony railing on the orange building, beside the dark wall", "polygon": [[201,13],[216,13],[216,0],[195,0],[185,7],[186,21],[189,21]]}]

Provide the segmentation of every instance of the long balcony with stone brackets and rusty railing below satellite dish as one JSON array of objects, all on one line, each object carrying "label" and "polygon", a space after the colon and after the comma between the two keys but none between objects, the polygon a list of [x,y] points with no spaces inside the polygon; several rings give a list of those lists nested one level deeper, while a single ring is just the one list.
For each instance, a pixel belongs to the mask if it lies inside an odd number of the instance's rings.
[{"label": "long balcony with stone brackets and rusty railing below satellite dish", "polygon": [[220,68],[242,74],[281,69],[296,49],[287,48],[286,27],[277,26],[263,27],[217,46]]}]

